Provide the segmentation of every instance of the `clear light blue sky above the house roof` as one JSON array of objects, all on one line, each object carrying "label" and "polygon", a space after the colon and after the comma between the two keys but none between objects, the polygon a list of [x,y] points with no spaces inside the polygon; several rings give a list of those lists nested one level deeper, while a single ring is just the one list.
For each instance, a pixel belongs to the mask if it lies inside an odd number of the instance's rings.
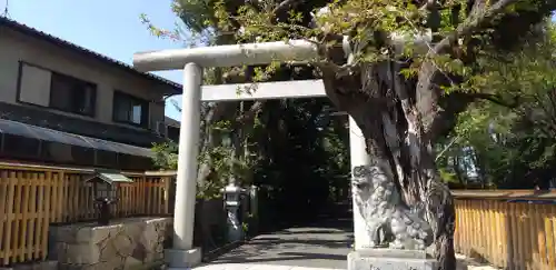
[{"label": "clear light blue sky above the house roof", "polygon": [[[138,51],[182,47],[151,36],[139,20],[146,13],[157,27],[173,28],[171,0],[0,0],[0,13],[6,2],[10,19],[126,63]],[[181,83],[180,71],[156,74]],[[179,120],[170,103],[166,114]]]}]

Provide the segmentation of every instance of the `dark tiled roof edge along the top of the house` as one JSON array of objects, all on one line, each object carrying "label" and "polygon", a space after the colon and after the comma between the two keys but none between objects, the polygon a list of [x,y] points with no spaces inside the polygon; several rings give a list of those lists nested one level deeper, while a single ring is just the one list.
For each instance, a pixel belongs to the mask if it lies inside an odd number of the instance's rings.
[{"label": "dark tiled roof edge along the top of the house", "polygon": [[115,66],[115,67],[118,67],[125,71],[128,71],[128,72],[131,72],[136,76],[140,76],[140,77],[143,77],[146,79],[149,79],[149,80],[153,80],[153,81],[157,81],[159,83],[163,83],[163,84],[167,84],[171,88],[173,88],[176,90],[175,93],[181,93],[181,84],[179,83],[176,83],[173,81],[170,81],[170,80],[167,80],[165,78],[161,78],[159,76],[155,76],[155,74],[150,74],[150,73],[145,73],[145,72],[140,72],[136,69],[133,69],[133,67],[125,63],[125,62],[121,62],[121,61],[118,61],[116,59],[112,59],[112,58],[109,58],[109,57],[106,57],[106,56],[102,56],[100,53],[97,53],[95,51],[91,51],[89,49],[86,49],[83,47],[80,47],[78,44],[75,44],[75,43],[71,43],[69,41],[66,41],[66,40],[62,40],[62,39],[59,39],[54,36],[51,36],[49,33],[46,33],[46,32],[42,32],[40,30],[37,30],[34,28],[31,28],[31,27],[28,27],[23,23],[20,23],[20,22],[17,22],[14,20],[10,20],[6,17],[1,17],[0,16],[0,27],[8,27],[10,29],[13,29],[18,32],[21,32],[23,34],[28,34],[28,36],[31,36],[31,37],[34,37],[37,39],[41,39],[41,40],[44,40],[47,42],[50,42],[50,43],[53,43],[56,46],[59,46],[59,47],[63,47],[68,50],[73,50],[78,53],[82,53],[85,56],[88,56],[88,57],[91,57],[91,58],[95,58],[99,61],[102,61],[102,62],[106,62],[107,64],[111,64],[111,66]]}]

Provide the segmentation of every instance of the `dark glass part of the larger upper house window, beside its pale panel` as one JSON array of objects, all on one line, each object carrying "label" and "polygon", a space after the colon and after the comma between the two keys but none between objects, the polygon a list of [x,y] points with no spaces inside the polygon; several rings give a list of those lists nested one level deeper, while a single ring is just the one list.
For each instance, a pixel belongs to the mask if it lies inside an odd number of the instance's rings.
[{"label": "dark glass part of the larger upper house window, beside its pale panel", "polygon": [[68,76],[52,73],[50,107],[58,110],[95,116],[96,86]]}]

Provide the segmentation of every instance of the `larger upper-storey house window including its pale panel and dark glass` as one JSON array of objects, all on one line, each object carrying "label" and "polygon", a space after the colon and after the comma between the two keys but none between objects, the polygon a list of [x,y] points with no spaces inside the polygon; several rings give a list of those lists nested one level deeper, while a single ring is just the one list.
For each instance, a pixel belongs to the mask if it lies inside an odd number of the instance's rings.
[{"label": "larger upper-storey house window including its pale panel and dark glass", "polygon": [[18,101],[83,116],[95,116],[97,86],[20,62]]}]

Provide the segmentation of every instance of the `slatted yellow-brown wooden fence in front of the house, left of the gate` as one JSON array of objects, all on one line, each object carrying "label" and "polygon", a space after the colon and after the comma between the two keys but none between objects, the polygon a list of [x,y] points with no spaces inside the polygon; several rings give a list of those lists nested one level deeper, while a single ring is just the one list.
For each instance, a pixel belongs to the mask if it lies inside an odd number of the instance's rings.
[{"label": "slatted yellow-brown wooden fence in front of the house, left of the gate", "polygon": [[[47,258],[51,223],[95,219],[92,188],[83,179],[92,169],[0,162],[0,266]],[[163,216],[173,172],[122,172],[116,218]]]}]

